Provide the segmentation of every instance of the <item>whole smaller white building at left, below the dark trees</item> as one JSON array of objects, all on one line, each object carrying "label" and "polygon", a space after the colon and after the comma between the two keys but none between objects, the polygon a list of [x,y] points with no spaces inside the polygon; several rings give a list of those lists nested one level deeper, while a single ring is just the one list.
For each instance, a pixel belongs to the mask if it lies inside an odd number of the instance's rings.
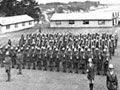
[{"label": "whole smaller white building at left, below the dark trees", "polygon": [[0,33],[19,31],[34,26],[34,19],[28,15],[0,17]]}]

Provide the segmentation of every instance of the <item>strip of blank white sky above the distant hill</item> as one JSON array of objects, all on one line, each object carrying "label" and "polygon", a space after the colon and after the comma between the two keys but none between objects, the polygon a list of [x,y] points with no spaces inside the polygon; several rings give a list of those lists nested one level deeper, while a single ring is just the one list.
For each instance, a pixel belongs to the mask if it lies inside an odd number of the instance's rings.
[{"label": "strip of blank white sky above the distant hill", "polygon": [[[67,3],[67,2],[72,2],[72,1],[80,1],[80,2],[84,2],[86,0],[36,0],[37,2],[39,3],[48,3],[48,2],[64,2],[64,3]],[[120,0],[87,0],[87,1],[100,1],[101,3],[113,3],[113,4],[118,4],[120,3]]]}]

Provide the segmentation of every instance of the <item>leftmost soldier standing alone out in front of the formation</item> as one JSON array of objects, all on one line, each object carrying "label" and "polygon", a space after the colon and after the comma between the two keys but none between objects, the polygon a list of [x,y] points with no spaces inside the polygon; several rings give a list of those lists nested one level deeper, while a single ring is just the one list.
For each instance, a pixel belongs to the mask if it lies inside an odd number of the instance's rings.
[{"label": "leftmost soldier standing alone out in front of the formation", "polygon": [[6,73],[7,73],[7,76],[8,76],[8,81],[10,81],[10,72],[11,72],[11,67],[12,67],[12,61],[11,61],[11,58],[9,56],[9,52],[7,51],[6,52],[6,57],[5,57],[5,60],[3,61],[4,65],[5,65],[5,70],[6,70]]}]

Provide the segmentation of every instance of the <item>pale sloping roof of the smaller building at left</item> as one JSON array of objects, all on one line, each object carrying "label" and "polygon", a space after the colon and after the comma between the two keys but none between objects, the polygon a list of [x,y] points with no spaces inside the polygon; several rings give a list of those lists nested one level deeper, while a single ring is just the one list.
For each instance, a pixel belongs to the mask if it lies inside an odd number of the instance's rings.
[{"label": "pale sloping roof of the smaller building at left", "polygon": [[31,20],[34,20],[34,19],[28,15],[0,17],[0,24],[9,25],[9,24],[15,24],[15,23],[26,22],[26,21],[31,21]]}]

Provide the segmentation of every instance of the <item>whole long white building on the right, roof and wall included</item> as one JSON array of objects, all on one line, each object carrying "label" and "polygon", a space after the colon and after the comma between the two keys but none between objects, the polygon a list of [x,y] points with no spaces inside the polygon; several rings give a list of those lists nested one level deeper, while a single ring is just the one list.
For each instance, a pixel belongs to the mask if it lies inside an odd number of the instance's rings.
[{"label": "whole long white building on the right, roof and wall included", "polygon": [[117,25],[117,16],[110,12],[53,14],[50,19],[50,27],[113,27],[115,25]]}]

